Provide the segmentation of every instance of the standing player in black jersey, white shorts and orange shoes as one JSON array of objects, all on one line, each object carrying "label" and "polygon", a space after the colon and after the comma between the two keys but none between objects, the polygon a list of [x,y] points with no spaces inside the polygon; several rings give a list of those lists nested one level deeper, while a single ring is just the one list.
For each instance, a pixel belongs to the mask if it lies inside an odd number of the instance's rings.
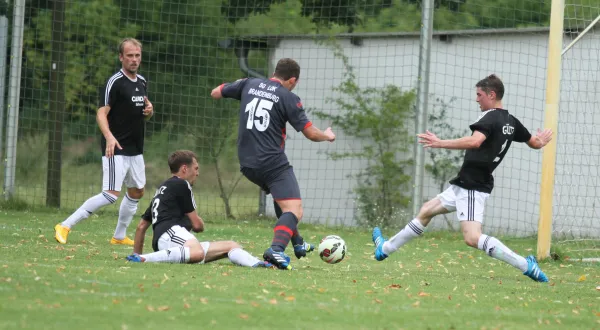
[{"label": "standing player in black jersey, white shorts and orange shoes", "polygon": [[102,132],[102,192],[89,198],[79,209],[54,227],[56,240],[67,243],[73,226],[103,206],[119,198],[123,183],[127,193],[119,208],[119,220],[111,244],[133,245],[126,236],[127,227],[144,195],[146,174],[144,165],[145,122],[154,113],[148,100],[146,79],[138,74],[142,61],[142,44],[126,38],[119,45],[121,70],[112,75],[100,95],[96,121]]}]

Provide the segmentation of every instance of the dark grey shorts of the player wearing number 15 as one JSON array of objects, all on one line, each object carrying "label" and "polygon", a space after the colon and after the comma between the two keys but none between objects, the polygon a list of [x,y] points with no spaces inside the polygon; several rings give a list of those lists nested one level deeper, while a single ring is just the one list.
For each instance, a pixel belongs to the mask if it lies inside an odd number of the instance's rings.
[{"label": "dark grey shorts of the player wearing number 15", "polygon": [[274,200],[302,199],[294,169],[289,164],[268,170],[249,167],[240,170],[248,180],[271,194]]}]

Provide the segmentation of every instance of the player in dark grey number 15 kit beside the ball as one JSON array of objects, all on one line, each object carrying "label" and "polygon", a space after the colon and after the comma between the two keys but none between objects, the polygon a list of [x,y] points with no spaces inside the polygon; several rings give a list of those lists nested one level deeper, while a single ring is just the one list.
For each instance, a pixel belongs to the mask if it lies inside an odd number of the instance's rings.
[{"label": "player in dark grey number 15 kit beside the ball", "polygon": [[290,239],[297,258],[314,246],[298,233],[302,219],[300,188],[285,155],[286,123],[311,141],[335,140],[331,128],[324,132],[306,117],[300,98],[292,93],[300,77],[300,66],[290,58],[279,60],[271,79],[240,79],[212,90],[214,99],[232,98],[240,102],[238,158],[248,180],[273,196],[277,223],[273,240],[263,257],[280,269],[289,269],[284,253]]}]

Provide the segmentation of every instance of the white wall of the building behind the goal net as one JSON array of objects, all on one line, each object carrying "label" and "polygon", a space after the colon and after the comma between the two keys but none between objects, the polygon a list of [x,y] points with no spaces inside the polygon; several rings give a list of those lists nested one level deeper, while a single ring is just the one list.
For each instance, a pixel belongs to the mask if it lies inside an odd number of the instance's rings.
[{"label": "white wall of the building behind the goal net", "polygon": [[[449,41],[434,38],[429,91],[446,101],[456,98],[448,109],[448,117],[456,129],[468,129],[480,111],[474,85],[486,75],[496,73],[506,88],[504,107],[535,132],[543,126],[544,119],[547,41],[546,33],[455,35]],[[361,46],[351,45],[347,39],[339,42],[356,70],[361,87],[416,86],[418,37],[366,38]],[[339,111],[326,99],[338,96],[332,88],[340,83],[344,70],[327,46],[310,39],[283,39],[272,51],[272,66],[282,57],[292,57],[302,67],[300,83],[294,92],[305,107],[330,113]],[[600,224],[596,216],[600,207],[595,204],[600,193],[597,188],[600,148],[595,128],[600,123],[599,61],[600,36],[584,38],[564,58],[554,208],[555,229],[591,231],[597,236]],[[319,128],[329,125],[314,115],[309,114],[309,118]],[[349,159],[332,161],[324,152],[350,151],[357,141],[339,130],[338,139],[332,144],[310,142],[291,127],[288,133],[286,152],[300,183],[303,221],[355,224],[358,215],[352,193],[355,180],[347,176],[364,164]],[[494,173],[496,185],[486,205],[484,221],[488,232],[531,235],[537,231],[541,155],[541,151],[524,144],[513,144]],[[427,177],[425,183],[426,198],[439,192],[431,178]],[[272,214],[272,200],[268,198],[268,212]],[[411,217],[407,215],[406,220]],[[453,214],[449,218],[455,221]],[[581,223],[580,228],[577,223]],[[437,225],[443,227],[443,221],[437,221]]]}]

